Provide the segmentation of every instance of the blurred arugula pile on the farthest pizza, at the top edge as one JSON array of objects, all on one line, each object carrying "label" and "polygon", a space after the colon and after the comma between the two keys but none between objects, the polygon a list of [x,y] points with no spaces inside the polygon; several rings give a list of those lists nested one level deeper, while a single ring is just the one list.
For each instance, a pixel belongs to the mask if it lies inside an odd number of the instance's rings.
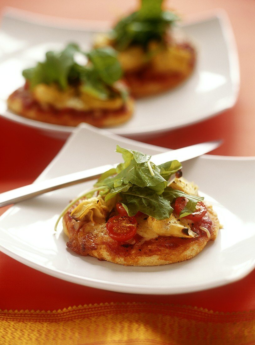
[{"label": "blurred arugula pile on the farthest pizza, at the top edge", "polygon": [[125,50],[130,45],[147,49],[151,40],[162,41],[166,30],[179,17],[162,9],[163,0],[141,0],[141,8],[121,19],[111,32],[115,48]]}]

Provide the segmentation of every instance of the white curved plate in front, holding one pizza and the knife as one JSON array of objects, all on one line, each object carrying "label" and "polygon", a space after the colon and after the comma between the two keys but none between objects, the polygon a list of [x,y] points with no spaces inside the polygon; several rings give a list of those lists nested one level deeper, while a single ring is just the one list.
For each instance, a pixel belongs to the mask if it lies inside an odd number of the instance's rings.
[{"label": "white curved plate in front, holding one pizza and the knife", "polygon": [[[120,161],[116,144],[149,154],[165,149],[82,125],[38,180]],[[81,159],[82,157],[82,159]],[[178,158],[178,157],[176,157]],[[118,292],[178,294],[234,282],[255,267],[252,202],[255,157],[205,155],[186,161],[183,173],[213,196],[224,228],[215,242],[186,262],[156,267],[126,267],[81,257],[66,247],[67,237],[54,224],[70,199],[92,183],[72,186],[23,201],[0,217],[1,250],[14,259],[70,282]],[[224,205],[224,206],[221,206]],[[61,230],[61,225],[60,225]]]}]

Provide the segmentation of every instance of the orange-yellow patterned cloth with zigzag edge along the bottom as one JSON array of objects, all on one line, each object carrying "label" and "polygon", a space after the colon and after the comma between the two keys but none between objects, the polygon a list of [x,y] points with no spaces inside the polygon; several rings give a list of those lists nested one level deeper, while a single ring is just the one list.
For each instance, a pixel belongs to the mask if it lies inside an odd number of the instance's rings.
[{"label": "orange-yellow patterned cloth with zigzag edge along the bottom", "polygon": [[255,344],[255,311],[222,313],[153,303],[0,311],[0,344]]}]

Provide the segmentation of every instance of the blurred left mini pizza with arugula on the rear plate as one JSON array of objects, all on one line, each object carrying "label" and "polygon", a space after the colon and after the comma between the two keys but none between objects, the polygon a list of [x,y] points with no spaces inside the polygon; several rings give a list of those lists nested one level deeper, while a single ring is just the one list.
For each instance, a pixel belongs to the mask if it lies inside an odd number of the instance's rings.
[{"label": "blurred left mini pizza with arugula on the rear plate", "polygon": [[57,125],[86,122],[96,127],[116,126],[132,116],[133,99],[110,47],[84,53],[69,44],[62,52],[47,52],[45,61],[24,70],[23,76],[25,85],[8,98],[9,109],[18,115]]}]

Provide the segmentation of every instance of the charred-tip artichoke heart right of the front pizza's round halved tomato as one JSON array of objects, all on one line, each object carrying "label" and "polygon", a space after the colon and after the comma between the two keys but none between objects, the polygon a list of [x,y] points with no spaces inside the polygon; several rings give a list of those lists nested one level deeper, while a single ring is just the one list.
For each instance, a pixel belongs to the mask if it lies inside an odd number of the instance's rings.
[{"label": "charred-tip artichoke heart right of the front pizza's round halved tomato", "polygon": [[147,223],[159,236],[197,237],[197,234],[191,230],[188,224],[184,224],[177,220],[173,214],[170,218],[163,220],[148,217]]}]

